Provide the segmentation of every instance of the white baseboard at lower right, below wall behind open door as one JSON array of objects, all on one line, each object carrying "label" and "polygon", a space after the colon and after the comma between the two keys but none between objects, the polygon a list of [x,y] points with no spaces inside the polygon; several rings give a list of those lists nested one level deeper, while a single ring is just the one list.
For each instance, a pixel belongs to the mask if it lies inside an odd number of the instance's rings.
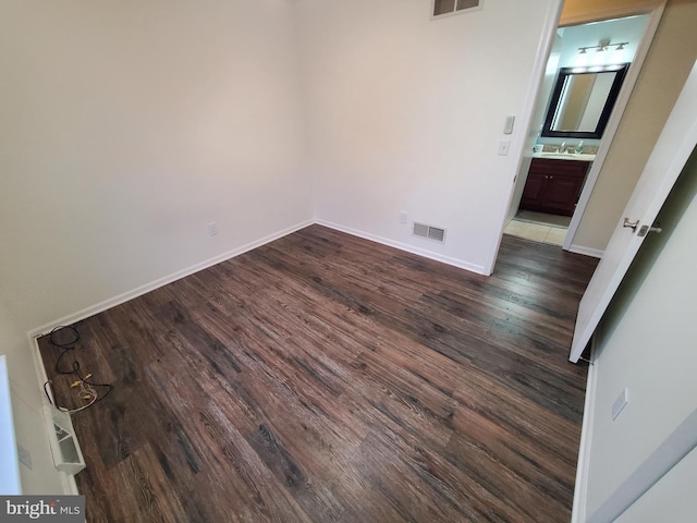
[{"label": "white baseboard at lower right, below wall behind open door", "polygon": [[[596,355],[596,338],[590,341],[590,361]],[[594,405],[598,390],[598,372],[596,364],[588,365],[586,381],[586,400],[584,402],[584,422],[580,428],[580,443],[578,446],[578,461],[576,462],[576,483],[574,485],[574,506],[571,512],[571,523],[586,521],[586,504],[588,499],[588,476],[590,467],[590,448],[594,424]]]}]

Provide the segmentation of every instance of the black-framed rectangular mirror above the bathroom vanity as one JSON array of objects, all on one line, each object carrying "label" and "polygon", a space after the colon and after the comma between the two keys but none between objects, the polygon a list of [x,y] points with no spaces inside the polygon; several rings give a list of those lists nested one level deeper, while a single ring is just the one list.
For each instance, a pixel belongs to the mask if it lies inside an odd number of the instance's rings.
[{"label": "black-framed rectangular mirror above the bathroom vanity", "polygon": [[562,68],[542,125],[542,136],[601,138],[628,63]]}]

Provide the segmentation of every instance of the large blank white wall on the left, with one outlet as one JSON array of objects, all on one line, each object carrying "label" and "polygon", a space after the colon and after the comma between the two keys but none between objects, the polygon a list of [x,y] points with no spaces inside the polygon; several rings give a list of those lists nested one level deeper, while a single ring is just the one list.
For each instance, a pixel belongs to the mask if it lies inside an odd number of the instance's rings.
[{"label": "large blank white wall on the left, with one outlet", "polygon": [[25,491],[58,485],[28,330],[311,220],[292,9],[0,1],[0,353]]}]

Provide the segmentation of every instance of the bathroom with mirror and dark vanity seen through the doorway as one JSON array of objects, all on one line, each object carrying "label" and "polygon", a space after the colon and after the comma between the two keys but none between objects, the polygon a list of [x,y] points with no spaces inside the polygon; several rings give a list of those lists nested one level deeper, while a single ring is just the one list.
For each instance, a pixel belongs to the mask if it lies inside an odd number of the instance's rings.
[{"label": "bathroom with mirror and dark vanity seen through the doorway", "polygon": [[504,233],[564,244],[596,154],[612,139],[604,125],[647,23],[639,15],[558,29],[536,102],[535,151],[523,162]]}]

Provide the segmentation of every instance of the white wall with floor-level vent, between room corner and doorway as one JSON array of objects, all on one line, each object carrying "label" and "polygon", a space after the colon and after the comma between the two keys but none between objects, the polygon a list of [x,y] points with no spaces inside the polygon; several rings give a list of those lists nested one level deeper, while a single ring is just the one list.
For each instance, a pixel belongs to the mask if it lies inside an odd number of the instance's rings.
[{"label": "white wall with floor-level vent, between room corner and doorway", "polygon": [[[486,272],[517,158],[518,121],[555,0],[487,2],[430,21],[429,0],[303,0],[309,169],[326,223]],[[537,78],[536,78],[537,80]],[[400,211],[408,226],[400,224]],[[412,221],[448,229],[443,245]]]}]

